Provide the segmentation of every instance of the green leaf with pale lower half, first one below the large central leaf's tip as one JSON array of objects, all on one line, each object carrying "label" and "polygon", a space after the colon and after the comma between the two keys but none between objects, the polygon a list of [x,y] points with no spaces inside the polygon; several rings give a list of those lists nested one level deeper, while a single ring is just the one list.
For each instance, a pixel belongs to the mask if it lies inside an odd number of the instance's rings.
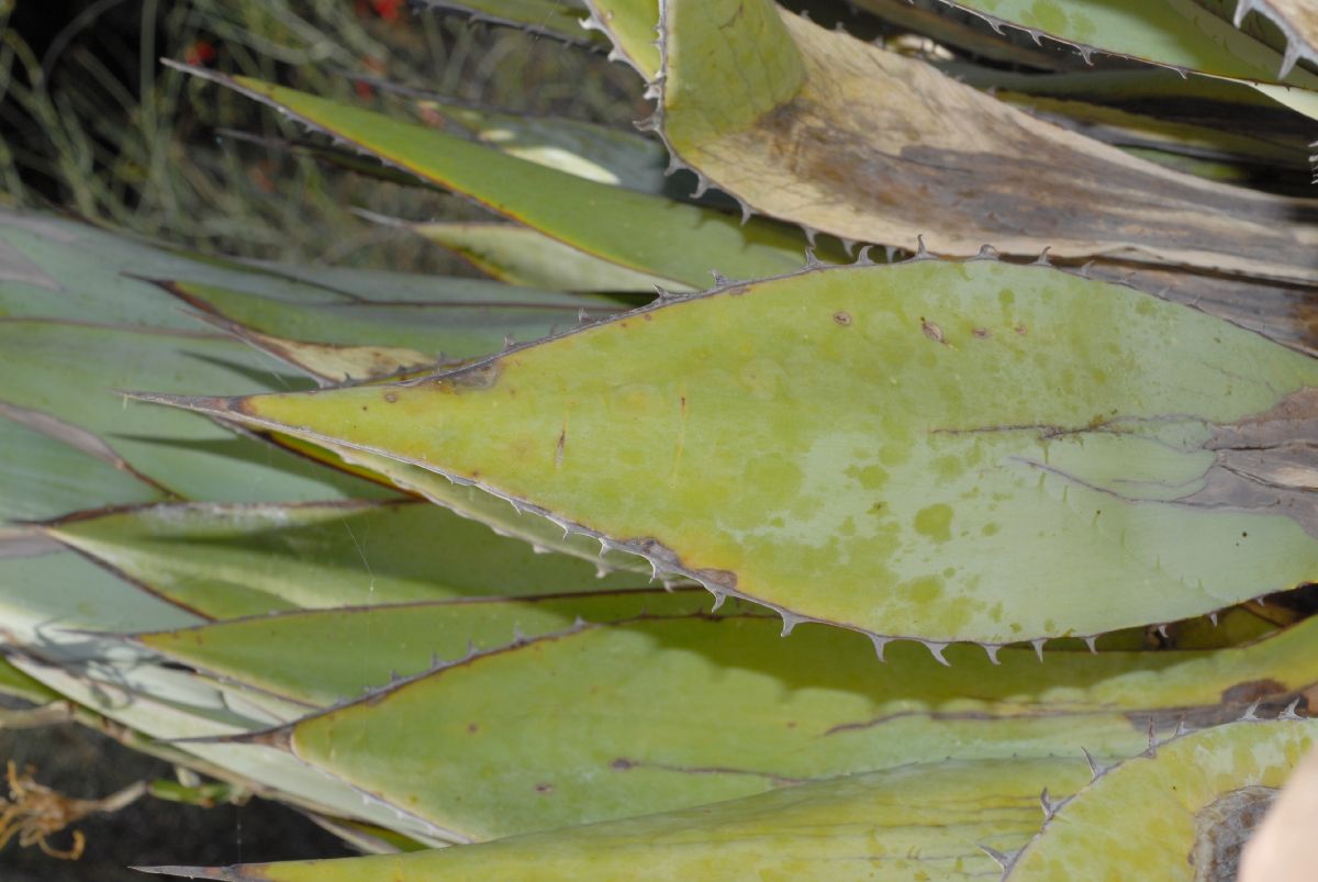
[{"label": "green leaf with pale lower half, first one below the large central leaf's tip", "polygon": [[49,533],[214,618],[637,584],[621,573],[596,581],[584,560],[536,554],[424,504],[161,505],[66,521]]}]

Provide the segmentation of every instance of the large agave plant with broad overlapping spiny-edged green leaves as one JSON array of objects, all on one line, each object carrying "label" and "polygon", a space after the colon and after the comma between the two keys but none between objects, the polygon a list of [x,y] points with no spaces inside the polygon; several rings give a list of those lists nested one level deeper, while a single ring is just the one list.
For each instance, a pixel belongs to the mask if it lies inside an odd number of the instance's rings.
[{"label": "large agave plant with broad overlapping spiny-edged green leaves", "polygon": [[0,215],[0,687],[370,853],[152,871],[1232,878],[1318,737],[1311,12],[440,5],[654,116],[190,70],[489,281]]}]

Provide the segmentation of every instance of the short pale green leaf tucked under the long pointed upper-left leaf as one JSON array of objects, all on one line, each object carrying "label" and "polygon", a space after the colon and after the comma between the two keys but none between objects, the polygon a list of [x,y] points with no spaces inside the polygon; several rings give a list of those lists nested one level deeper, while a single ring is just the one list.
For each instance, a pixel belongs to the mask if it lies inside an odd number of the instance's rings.
[{"label": "short pale green leaf tucked under the long pointed upper-left leaf", "polygon": [[456,252],[476,269],[511,285],[568,291],[645,291],[655,286],[691,291],[666,278],[637,273],[579,252],[556,239],[517,224],[439,221],[409,229]]}]

